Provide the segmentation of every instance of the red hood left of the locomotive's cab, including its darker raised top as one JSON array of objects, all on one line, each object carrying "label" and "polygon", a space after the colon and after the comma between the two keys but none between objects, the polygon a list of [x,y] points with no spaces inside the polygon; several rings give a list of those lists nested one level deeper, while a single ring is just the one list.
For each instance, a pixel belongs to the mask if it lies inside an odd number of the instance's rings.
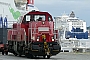
[{"label": "red hood left of the locomotive's cab, including its darker raised top", "polygon": [[8,40],[12,41],[24,41],[25,40],[25,25],[24,24],[14,24],[14,29],[8,30]]}]

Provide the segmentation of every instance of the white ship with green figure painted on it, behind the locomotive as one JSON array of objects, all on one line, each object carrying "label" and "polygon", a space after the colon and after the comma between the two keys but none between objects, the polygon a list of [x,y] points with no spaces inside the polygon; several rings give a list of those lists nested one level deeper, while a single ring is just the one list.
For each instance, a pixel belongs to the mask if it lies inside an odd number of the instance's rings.
[{"label": "white ship with green figure painted on it, behind the locomotive", "polygon": [[12,28],[13,23],[20,22],[32,10],[39,11],[34,0],[0,0],[0,28]]}]

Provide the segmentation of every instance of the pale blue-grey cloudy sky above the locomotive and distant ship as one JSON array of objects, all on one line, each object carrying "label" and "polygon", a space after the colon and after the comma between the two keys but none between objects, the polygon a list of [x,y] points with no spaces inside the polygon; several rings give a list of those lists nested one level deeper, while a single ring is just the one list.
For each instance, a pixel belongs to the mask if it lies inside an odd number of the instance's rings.
[{"label": "pale blue-grey cloudy sky above the locomotive and distant ship", "polygon": [[90,0],[34,0],[34,4],[40,11],[47,11],[53,17],[74,11],[76,17],[90,26]]}]

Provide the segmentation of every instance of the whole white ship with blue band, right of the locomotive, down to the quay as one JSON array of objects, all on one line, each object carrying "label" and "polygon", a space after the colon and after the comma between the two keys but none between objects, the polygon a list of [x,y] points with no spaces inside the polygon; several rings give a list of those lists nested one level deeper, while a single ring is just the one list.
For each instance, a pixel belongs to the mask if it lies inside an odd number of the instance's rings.
[{"label": "whole white ship with blue band, right of the locomotive, down to the quay", "polygon": [[86,22],[77,18],[73,11],[70,15],[64,13],[55,17],[55,23],[56,29],[59,30],[62,52],[90,51]]}]

